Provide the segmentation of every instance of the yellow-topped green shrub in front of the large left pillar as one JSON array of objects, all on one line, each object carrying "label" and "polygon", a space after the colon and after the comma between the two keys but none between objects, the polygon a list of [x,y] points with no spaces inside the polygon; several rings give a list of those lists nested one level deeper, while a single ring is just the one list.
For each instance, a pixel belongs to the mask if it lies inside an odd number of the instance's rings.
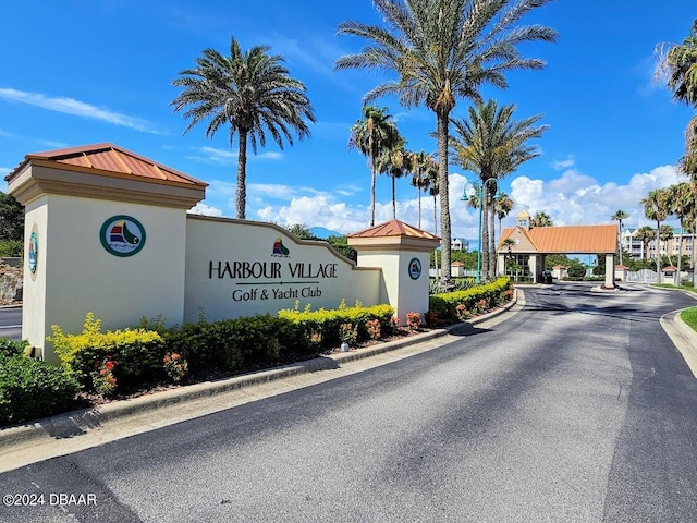
[{"label": "yellow-topped green shrub in front of the large left pillar", "polygon": [[53,336],[48,340],[61,363],[89,389],[96,385],[95,373],[98,374],[105,360],[115,362],[112,374],[120,386],[163,377],[164,342],[155,331],[125,329],[102,333],[101,321],[91,313],[87,314],[80,335],[65,335],[57,325],[51,329]]}]

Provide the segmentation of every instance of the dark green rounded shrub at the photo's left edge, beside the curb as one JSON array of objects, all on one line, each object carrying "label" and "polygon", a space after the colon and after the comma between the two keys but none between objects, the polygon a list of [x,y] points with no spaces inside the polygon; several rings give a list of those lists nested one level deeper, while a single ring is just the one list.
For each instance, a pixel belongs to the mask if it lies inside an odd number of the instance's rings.
[{"label": "dark green rounded shrub at the photo's left edge, beside the curb", "polygon": [[70,409],[80,389],[62,366],[14,355],[0,360],[0,424],[50,416]]}]

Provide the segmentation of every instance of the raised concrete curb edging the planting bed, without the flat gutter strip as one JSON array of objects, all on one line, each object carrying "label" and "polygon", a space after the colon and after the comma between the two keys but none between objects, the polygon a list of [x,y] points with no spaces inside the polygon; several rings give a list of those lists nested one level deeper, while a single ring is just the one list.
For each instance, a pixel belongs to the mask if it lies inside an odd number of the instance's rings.
[{"label": "raised concrete curb edging the planting bed, without the flat gutter strip", "polygon": [[448,328],[436,329],[421,335],[412,336],[405,340],[390,341],[367,349],[330,354],[328,356],[316,357],[268,370],[235,376],[220,381],[206,381],[129,400],[114,401],[105,405],[37,419],[36,422],[27,425],[0,428],[0,453],[3,449],[20,445],[30,445],[39,439],[70,438],[77,434],[83,434],[86,430],[99,428],[105,422],[117,418],[125,418],[135,414],[142,414],[144,412],[155,411],[157,409],[183,402],[198,400],[253,385],[265,384],[308,373],[334,369],[340,367],[342,363],[363,360],[378,354],[383,354],[386,352],[395,351],[398,349],[403,349],[405,346],[423,343],[443,337],[463,325],[476,325],[494,318],[496,316],[510,311],[516,303],[518,303],[519,300],[523,300],[524,304],[523,292],[518,293],[517,290],[514,290],[513,300],[506,303],[503,307],[497,308],[496,311],[481,316],[477,316],[476,318],[472,318],[466,323],[455,324]]}]

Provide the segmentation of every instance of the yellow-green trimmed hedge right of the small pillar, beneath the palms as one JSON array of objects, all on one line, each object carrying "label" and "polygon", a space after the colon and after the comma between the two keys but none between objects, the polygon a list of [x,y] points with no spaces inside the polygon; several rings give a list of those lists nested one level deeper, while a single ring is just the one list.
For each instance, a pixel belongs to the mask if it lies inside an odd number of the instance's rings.
[{"label": "yellow-green trimmed hedge right of the small pillar, beneath the palms", "polygon": [[428,317],[438,324],[462,321],[463,315],[480,313],[510,300],[511,293],[506,291],[512,289],[511,279],[501,277],[464,291],[433,294],[429,297]]}]

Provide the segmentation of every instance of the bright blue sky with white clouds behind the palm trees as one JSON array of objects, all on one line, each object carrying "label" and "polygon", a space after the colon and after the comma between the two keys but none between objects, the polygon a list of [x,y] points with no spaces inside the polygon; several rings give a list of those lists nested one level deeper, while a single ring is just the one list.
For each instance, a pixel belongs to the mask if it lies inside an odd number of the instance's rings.
[{"label": "bright blue sky with white clouds behind the palm trees", "polygon": [[[331,7],[329,7],[331,5]],[[690,7],[693,9],[690,9]],[[485,99],[515,104],[515,119],[543,114],[549,125],[535,141],[540,155],[504,179],[515,202],[503,227],[527,209],[557,226],[651,224],[639,200],[678,183],[675,163],[694,110],[675,104],[655,80],[656,48],[682,42],[697,17],[685,0],[559,0],[523,23],[559,33],[555,44],[525,44],[525,57],[542,71],[516,71],[505,90],[484,87]],[[337,35],[341,22],[380,24],[372,2],[257,0],[61,0],[5,2],[0,19],[0,175],[30,153],[111,142],[209,184],[195,211],[235,216],[236,141],[227,129],[206,138],[206,125],[187,122],[170,102],[182,70],[207,48],[229,52],[268,45],[285,59],[291,76],[307,86],[317,123],[311,137],[280,149],[273,143],[248,157],[246,217],[281,226],[323,227],[340,233],[370,222],[370,171],[348,149],[350,129],[363,96],[386,80],[378,73],[334,71],[341,56],[365,41]],[[428,109],[387,107],[411,150],[436,151],[436,117]],[[461,99],[452,117],[462,119]],[[250,151],[249,151],[250,153]],[[476,243],[479,215],[460,197],[472,172],[450,167],[453,236]],[[7,184],[0,183],[7,191]],[[433,232],[433,200],[419,198],[408,179],[398,180],[396,218]],[[378,177],[376,223],[392,219],[390,179]],[[436,230],[436,232],[439,232]]]}]

